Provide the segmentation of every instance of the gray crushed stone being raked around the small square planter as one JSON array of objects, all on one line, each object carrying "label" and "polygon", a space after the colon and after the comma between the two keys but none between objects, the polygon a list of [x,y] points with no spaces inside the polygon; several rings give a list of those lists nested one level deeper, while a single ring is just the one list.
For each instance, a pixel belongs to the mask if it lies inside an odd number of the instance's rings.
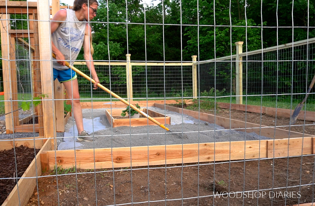
[{"label": "gray crushed stone being raked around the small square planter", "polygon": [[[103,109],[83,109],[83,118],[95,119],[98,118],[103,125],[103,129],[93,132],[92,124],[86,125],[85,130],[89,129],[94,136],[93,142],[77,142],[73,137],[73,132],[76,133],[75,122],[72,117],[69,118],[65,128],[67,132],[72,132],[71,137],[63,138],[58,146],[58,150],[65,149],[93,149],[93,148],[111,148],[111,147],[130,147],[130,146],[148,146],[148,145],[165,145],[165,144],[192,144],[192,143],[207,143],[207,142],[228,142],[228,141],[244,141],[244,140],[263,140],[270,139],[264,136],[251,132],[245,133],[235,130],[225,129],[215,124],[210,124],[205,121],[182,115],[177,112],[149,107],[148,109],[166,114],[171,117],[171,125],[166,125],[170,131],[166,132],[163,128],[157,125],[138,126],[138,127],[115,127],[112,128],[105,115]],[[92,122],[92,121],[90,121]],[[94,121],[93,121],[94,122]],[[96,125],[96,123],[95,123]],[[77,136],[77,133],[75,134]]]}]

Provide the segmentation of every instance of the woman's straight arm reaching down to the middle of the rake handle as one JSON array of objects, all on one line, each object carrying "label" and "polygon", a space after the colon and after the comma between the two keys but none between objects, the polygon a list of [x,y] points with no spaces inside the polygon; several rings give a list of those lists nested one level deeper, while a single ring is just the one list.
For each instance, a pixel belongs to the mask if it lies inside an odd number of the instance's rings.
[{"label": "woman's straight arm reaching down to the middle of the rake handle", "polygon": [[84,51],[84,59],[86,60],[86,65],[89,68],[92,78],[95,80],[94,89],[97,89],[97,83],[100,83],[93,63],[93,57],[91,54],[90,48],[90,38],[92,38],[92,29],[89,26],[89,23],[86,23],[85,34],[83,39],[83,51]]}]

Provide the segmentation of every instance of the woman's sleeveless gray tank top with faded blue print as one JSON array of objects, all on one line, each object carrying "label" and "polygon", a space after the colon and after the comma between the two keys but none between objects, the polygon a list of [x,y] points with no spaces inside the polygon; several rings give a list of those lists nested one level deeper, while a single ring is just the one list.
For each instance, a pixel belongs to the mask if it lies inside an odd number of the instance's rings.
[{"label": "woman's sleeveless gray tank top with faded blue print", "polygon": [[[71,62],[73,65],[83,44],[87,22],[85,20],[79,21],[74,10],[66,10],[66,21],[61,23],[56,31],[51,34],[51,38],[57,49],[65,56],[66,61],[69,64]],[[53,58],[53,60],[55,59]],[[57,61],[53,61],[53,68],[57,70],[66,70],[69,67],[62,66],[58,64]]]}]

